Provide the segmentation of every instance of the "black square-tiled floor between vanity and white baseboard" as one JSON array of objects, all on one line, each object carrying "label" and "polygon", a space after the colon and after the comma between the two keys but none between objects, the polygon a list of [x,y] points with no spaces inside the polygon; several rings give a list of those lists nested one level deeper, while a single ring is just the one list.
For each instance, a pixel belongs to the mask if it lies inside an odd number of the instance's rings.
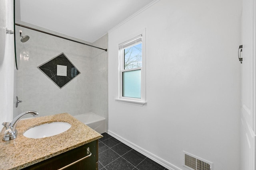
[{"label": "black square-tiled floor between vanity and white baseboard", "polygon": [[107,133],[99,139],[99,170],[167,170]]}]

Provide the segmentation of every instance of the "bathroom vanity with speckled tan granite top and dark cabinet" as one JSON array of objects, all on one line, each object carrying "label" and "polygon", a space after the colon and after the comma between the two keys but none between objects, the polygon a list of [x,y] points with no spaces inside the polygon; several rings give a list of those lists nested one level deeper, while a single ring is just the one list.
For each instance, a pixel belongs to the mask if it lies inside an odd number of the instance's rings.
[{"label": "bathroom vanity with speckled tan granite top and dark cabinet", "polygon": [[[66,122],[70,129],[45,138],[27,138],[28,129],[52,122]],[[20,120],[18,135],[10,141],[0,141],[1,170],[97,170],[99,133],[68,113]],[[0,137],[4,136],[3,128]],[[52,129],[54,131],[54,129]]]}]

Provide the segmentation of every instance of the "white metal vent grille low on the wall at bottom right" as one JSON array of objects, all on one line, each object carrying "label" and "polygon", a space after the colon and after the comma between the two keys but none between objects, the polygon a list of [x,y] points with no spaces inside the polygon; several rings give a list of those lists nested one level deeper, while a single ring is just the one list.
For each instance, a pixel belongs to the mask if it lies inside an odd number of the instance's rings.
[{"label": "white metal vent grille low on the wall at bottom right", "polygon": [[213,170],[212,162],[183,151],[183,166],[190,170]]}]

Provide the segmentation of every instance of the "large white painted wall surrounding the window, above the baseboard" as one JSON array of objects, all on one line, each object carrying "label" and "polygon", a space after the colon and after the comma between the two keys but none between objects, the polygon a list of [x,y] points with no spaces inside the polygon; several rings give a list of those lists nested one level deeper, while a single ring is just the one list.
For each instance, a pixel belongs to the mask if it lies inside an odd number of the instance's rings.
[{"label": "large white painted wall surrounding the window, above the baseboard", "polygon": [[[241,1],[160,0],[109,32],[109,133],[182,166],[182,151],[238,170]],[[119,103],[118,43],[146,27],[146,97]],[[160,162],[161,163],[161,162]]]}]

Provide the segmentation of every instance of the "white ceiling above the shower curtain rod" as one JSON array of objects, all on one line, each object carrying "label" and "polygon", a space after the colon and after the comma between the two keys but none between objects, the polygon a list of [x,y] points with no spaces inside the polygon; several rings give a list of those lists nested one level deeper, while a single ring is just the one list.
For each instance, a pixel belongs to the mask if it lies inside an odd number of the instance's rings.
[{"label": "white ceiling above the shower curtain rod", "polygon": [[20,0],[20,20],[92,43],[152,1]]}]

